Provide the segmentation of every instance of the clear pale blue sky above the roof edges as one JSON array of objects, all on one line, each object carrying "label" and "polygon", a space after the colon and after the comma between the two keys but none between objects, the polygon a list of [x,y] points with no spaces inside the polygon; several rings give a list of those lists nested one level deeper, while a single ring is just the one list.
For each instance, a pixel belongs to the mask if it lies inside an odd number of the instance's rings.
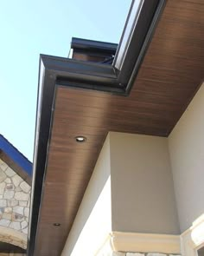
[{"label": "clear pale blue sky above the roof edges", "polygon": [[33,160],[41,53],[67,57],[73,36],[118,43],[131,0],[0,4],[0,134]]}]

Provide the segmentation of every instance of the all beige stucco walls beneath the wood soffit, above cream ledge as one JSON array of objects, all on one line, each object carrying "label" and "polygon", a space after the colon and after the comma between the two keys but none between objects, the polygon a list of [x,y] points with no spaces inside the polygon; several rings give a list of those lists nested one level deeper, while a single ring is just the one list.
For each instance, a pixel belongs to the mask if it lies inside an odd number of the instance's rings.
[{"label": "all beige stucco walls beneath the wood soffit, above cream ledge", "polygon": [[110,133],[62,256],[95,255],[112,232],[187,230],[204,213],[203,115],[204,85],[169,138]]}]

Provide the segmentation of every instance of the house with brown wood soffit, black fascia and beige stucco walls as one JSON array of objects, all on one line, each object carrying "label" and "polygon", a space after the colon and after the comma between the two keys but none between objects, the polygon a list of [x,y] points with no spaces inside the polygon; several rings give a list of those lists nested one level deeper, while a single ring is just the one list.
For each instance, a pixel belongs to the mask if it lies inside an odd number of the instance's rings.
[{"label": "house with brown wood soffit, black fascia and beige stucco walls", "polygon": [[29,256],[202,255],[203,8],[133,1],[118,46],[40,56]]}]

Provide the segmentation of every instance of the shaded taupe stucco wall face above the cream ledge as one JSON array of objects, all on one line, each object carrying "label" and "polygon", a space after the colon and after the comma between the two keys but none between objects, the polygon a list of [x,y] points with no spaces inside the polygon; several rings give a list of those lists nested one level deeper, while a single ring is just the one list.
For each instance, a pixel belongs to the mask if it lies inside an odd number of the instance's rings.
[{"label": "shaded taupe stucco wall face above the cream ledge", "polygon": [[180,233],[167,138],[110,133],[112,230]]}]

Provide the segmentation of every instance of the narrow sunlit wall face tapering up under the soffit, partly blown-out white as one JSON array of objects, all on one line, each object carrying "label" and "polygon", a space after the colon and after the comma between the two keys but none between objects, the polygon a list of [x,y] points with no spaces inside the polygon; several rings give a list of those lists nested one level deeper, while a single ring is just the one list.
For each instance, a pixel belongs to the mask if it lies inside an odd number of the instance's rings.
[{"label": "narrow sunlit wall face tapering up under the soffit, partly blown-out white", "polygon": [[95,255],[112,229],[109,137],[99,155],[62,256]]}]

